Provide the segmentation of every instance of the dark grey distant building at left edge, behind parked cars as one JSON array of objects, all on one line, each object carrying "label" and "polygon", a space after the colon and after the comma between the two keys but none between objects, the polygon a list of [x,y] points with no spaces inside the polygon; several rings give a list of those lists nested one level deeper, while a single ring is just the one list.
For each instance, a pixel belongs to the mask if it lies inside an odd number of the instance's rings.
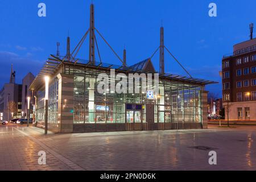
[{"label": "dark grey distant building at left edge, behind parked cars", "polygon": [[32,80],[34,80],[34,75],[28,73],[23,78],[22,84],[16,84],[15,72],[13,71],[13,65],[11,66],[10,82],[3,85],[0,90],[1,120],[10,121],[13,118],[26,118],[27,101],[25,101],[25,97],[32,96],[31,91],[28,92]]}]

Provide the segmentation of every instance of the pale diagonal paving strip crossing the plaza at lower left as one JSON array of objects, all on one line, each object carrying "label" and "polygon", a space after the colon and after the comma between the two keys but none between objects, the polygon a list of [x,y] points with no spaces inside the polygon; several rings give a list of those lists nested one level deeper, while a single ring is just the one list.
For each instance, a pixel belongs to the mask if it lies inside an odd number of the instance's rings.
[{"label": "pale diagonal paving strip crossing the plaza at lower left", "polygon": [[33,140],[35,143],[39,144],[39,146],[44,148],[44,150],[49,152],[49,154],[52,154],[56,159],[60,160],[61,162],[63,162],[68,167],[72,168],[73,170],[85,171],[84,168],[82,168],[78,164],[73,163],[71,160],[65,158],[63,155],[59,154],[58,152],[52,150],[51,148],[46,146],[46,144],[44,144],[43,142],[40,142],[40,140],[36,139],[35,137],[32,137],[32,136],[28,135],[27,133],[24,133],[23,131],[20,131],[19,129],[16,129],[15,127],[14,127],[14,129],[19,131],[19,133],[22,133],[23,135],[26,135],[28,138]]}]

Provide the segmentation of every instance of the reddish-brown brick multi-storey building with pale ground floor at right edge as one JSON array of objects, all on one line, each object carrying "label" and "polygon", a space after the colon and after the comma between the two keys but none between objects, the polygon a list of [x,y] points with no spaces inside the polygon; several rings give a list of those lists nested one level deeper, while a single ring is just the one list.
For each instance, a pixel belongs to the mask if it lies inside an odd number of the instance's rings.
[{"label": "reddish-brown brick multi-storey building with pale ground floor at right edge", "polygon": [[222,59],[222,95],[225,118],[256,119],[256,39],[233,47]]}]

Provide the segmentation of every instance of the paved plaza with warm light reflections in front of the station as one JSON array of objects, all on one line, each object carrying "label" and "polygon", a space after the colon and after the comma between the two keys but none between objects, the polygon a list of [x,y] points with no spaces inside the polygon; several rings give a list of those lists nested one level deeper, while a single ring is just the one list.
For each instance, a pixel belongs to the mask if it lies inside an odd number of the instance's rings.
[{"label": "paved plaza with warm light reflections in front of the station", "polygon": [[[256,127],[52,134],[0,126],[0,170],[255,170]],[[39,165],[39,151],[46,165]],[[209,151],[217,165],[209,165]]]}]

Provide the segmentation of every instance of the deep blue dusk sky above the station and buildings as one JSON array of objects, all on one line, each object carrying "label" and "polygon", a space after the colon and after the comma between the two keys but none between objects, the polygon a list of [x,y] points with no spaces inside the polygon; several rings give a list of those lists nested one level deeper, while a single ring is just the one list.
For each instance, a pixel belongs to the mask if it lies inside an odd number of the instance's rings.
[{"label": "deep blue dusk sky above the station and buildings", "polygon": [[[47,16],[38,16],[38,4],[46,3]],[[217,17],[210,18],[208,5],[217,4]],[[16,82],[28,72],[40,71],[49,54],[65,55],[69,32],[71,49],[89,27],[90,0],[0,1],[0,85],[9,82],[11,64]],[[221,59],[233,52],[233,45],[249,39],[249,23],[256,23],[255,0],[94,0],[96,28],[127,64],[150,57],[159,46],[163,20],[164,44],[193,77],[219,81]],[[96,35],[97,36],[97,35]],[[121,64],[97,36],[102,60]],[[77,57],[88,59],[88,38]],[[152,59],[159,70],[159,54]],[[165,54],[166,72],[186,75],[170,55]],[[221,97],[221,84],[207,86]]]}]

